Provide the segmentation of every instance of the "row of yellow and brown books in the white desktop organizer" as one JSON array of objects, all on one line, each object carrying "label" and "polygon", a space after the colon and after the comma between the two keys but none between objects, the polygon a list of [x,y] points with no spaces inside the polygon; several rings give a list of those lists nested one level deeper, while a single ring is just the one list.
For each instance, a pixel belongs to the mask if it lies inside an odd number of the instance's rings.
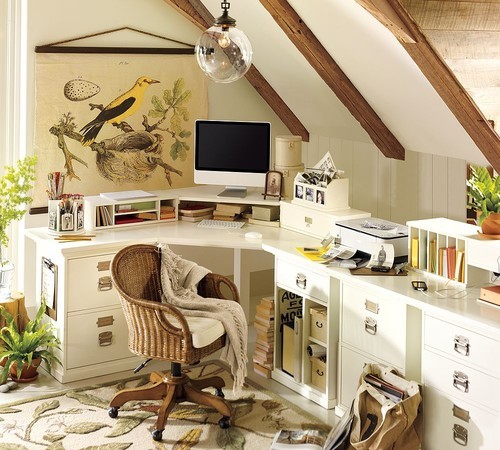
[{"label": "row of yellow and brown books in the white desktop organizer", "polygon": [[[451,280],[465,282],[465,251],[456,246],[439,247],[435,239],[429,242],[429,262],[426,270]],[[419,240],[411,240],[411,265],[421,268]]]}]

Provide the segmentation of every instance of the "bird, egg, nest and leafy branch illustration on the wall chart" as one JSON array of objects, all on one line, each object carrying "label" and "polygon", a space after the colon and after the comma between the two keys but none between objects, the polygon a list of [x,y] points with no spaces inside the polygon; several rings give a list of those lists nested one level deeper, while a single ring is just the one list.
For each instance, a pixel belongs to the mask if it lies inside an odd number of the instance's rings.
[{"label": "bird, egg, nest and leafy branch illustration on the wall chart", "polygon": [[[107,106],[89,103],[91,111],[98,111],[95,119],[78,130],[76,118],[71,112],[64,113],[50,133],[57,137],[65,163],[67,179],[81,180],[75,168],[76,163],[88,167],[80,156],[70,151],[67,140],[81,143],[96,154],[98,173],[107,180],[123,182],[143,182],[160,167],[172,186],[172,173],[182,176],[182,171],[163,159],[163,147],[170,144],[169,156],[172,161],[185,161],[190,150],[187,139],[191,131],[184,129],[189,120],[187,104],[192,97],[186,89],[183,78],[174,82],[172,89],[165,89],[160,98],[151,97],[151,108],[143,115],[143,129],[135,130],[125,121],[135,114],[145,97],[147,88],[157,80],[142,76],[130,90],[117,97]],[[71,101],[84,101],[100,91],[99,86],[85,80],[70,80],[64,87],[64,95]],[[109,139],[98,139],[103,127],[113,126],[120,131]]]}]

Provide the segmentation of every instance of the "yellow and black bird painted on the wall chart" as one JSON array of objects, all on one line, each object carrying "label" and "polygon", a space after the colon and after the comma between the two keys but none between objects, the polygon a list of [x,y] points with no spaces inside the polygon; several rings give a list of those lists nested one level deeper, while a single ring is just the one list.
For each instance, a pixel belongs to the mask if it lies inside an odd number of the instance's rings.
[{"label": "yellow and black bird painted on the wall chart", "polygon": [[130,90],[114,99],[94,120],[80,130],[83,133],[82,144],[84,146],[92,144],[105,123],[119,124],[134,114],[141,106],[146,89],[153,83],[159,81],[148,77],[138,78]]}]

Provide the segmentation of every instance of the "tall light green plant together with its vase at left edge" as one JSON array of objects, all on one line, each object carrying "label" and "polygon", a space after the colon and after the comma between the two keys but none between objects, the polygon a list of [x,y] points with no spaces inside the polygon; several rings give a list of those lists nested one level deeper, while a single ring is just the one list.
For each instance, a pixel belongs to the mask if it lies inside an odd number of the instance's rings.
[{"label": "tall light green plant together with its vase at left edge", "polygon": [[32,198],[28,192],[35,180],[35,156],[19,160],[17,165],[6,166],[0,178],[0,302],[10,298],[14,264],[3,257],[3,249],[9,243],[7,227],[14,220],[21,220],[26,213],[26,205]]}]

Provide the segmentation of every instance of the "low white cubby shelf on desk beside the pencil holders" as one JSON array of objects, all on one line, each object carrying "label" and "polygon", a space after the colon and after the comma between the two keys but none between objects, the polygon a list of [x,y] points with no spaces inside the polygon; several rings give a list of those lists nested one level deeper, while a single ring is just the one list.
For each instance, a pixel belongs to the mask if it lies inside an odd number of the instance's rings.
[{"label": "low white cubby shelf on desk beside the pencil holders", "polygon": [[166,191],[151,191],[152,197],[112,200],[100,195],[85,197],[85,229],[145,225],[177,220],[178,199]]}]

